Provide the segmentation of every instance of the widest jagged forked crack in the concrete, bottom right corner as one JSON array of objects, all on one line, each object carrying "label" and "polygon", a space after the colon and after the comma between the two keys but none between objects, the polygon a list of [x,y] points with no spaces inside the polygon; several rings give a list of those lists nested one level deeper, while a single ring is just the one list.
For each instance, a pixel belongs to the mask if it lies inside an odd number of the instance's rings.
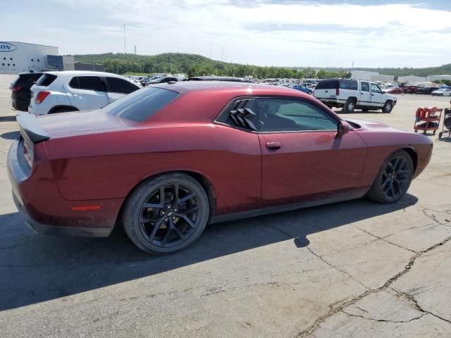
[{"label": "widest jagged forked crack in the concrete, bottom right corner", "polygon": [[[410,268],[412,268],[412,266],[414,265],[416,258],[419,258],[421,255],[423,255],[424,253],[427,253],[429,251],[432,251],[433,249],[438,248],[439,246],[442,246],[443,244],[445,244],[446,242],[450,241],[451,236],[450,237],[446,237],[445,239],[443,239],[442,242],[438,243],[438,244],[434,244],[433,246],[430,246],[428,249],[423,250],[423,251],[419,251],[417,252],[414,256],[412,256],[409,259],[409,263],[407,263],[407,265],[405,265],[404,270],[400,271],[400,273],[397,273],[396,275],[394,275],[393,277],[391,277],[389,280],[387,280],[381,287],[377,287],[375,289],[367,289],[366,292],[360,294],[357,297],[354,297],[353,299],[350,299],[349,301],[344,301],[342,303],[340,303],[340,305],[338,306],[329,306],[330,310],[325,314],[322,315],[321,317],[317,318],[314,323],[312,325],[310,325],[309,327],[307,327],[306,329],[302,330],[301,332],[298,332],[296,334],[296,337],[300,338],[300,337],[307,337],[310,334],[312,334],[318,327],[319,325],[321,325],[321,323],[323,323],[327,318],[331,317],[332,315],[335,315],[338,312],[342,312],[342,309],[345,308],[346,306],[349,306],[357,301],[359,301],[360,299],[364,298],[365,296],[373,293],[373,292],[379,292],[379,291],[383,291],[385,289],[387,289],[390,284],[392,284],[393,282],[395,282],[395,280],[397,280],[399,277],[401,277],[402,275],[404,275],[405,273],[409,272]],[[390,288],[391,289],[391,288]],[[398,292],[395,290],[395,292],[397,292],[398,294],[404,296],[405,298],[409,299],[410,301],[413,301],[416,304],[416,307],[419,309],[419,311],[423,312],[423,313],[429,313],[431,315],[433,315],[434,317],[441,319],[443,321],[445,321],[446,323],[450,323],[450,320],[447,320],[445,318],[441,318],[438,315],[435,315],[434,313],[431,313],[430,311],[424,311],[419,304],[416,302],[416,300],[414,299],[414,297],[412,295],[409,294],[405,294],[402,292]]]}]

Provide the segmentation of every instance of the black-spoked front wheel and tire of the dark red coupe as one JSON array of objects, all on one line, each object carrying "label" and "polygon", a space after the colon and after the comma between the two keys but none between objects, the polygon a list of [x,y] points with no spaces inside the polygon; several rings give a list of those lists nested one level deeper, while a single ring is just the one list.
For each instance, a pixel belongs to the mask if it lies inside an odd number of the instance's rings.
[{"label": "black-spoked front wheel and tire of the dark red coupe", "polygon": [[413,175],[412,158],[404,150],[396,151],[384,161],[366,196],[381,204],[395,203],[406,194]]}]

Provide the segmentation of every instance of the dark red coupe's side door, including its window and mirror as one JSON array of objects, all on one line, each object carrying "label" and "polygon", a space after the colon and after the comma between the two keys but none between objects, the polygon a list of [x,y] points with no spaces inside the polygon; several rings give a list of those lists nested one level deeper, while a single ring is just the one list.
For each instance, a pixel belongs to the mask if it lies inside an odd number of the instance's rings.
[{"label": "dark red coupe's side door, including its window and mirror", "polygon": [[302,99],[257,98],[262,206],[350,195],[362,178],[366,144],[339,119]]}]

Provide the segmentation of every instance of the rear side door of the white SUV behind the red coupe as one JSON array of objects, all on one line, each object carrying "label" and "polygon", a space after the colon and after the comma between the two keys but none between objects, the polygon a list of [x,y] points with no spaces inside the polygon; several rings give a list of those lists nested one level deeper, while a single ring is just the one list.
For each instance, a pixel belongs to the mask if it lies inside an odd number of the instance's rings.
[{"label": "rear side door of the white SUV behind the red coupe", "polygon": [[66,89],[70,104],[80,111],[91,111],[109,104],[104,82],[99,76],[73,77]]}]

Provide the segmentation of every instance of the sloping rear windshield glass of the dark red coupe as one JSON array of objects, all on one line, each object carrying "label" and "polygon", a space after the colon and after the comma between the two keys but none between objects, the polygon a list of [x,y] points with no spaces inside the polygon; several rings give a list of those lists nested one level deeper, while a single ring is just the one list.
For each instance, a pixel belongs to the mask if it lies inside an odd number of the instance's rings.
[{"label": "sloping rear windshield glass of the dark red coupe", "polygon": [[121,118],[142,122],[177,96],[178,93],[172,90],[145,87],[113,101],[102,110]]}]

